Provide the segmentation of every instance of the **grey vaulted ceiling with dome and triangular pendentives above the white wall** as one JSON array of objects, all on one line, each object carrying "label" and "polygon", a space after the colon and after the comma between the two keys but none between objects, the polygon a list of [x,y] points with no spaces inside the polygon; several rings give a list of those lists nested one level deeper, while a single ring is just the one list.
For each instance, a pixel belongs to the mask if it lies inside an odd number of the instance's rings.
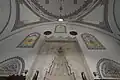
[{"label": "grey vaulted ceiling with dome and triangular pendentives above the white wall", "polygon": [[0,34],[6,28],[12,32],[27,25],[63,19],[120,35],[118,5],[117,0],[1,0]]}]

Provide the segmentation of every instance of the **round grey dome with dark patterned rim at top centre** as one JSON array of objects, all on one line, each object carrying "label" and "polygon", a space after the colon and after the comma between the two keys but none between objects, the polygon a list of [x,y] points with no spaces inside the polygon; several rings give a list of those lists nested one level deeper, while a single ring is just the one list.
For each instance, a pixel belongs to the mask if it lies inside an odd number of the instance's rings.
[{"label": "round grey dome with dark patterned rim at top centre", "polygon": [[[50,20],[78,18],[99,0],[24,0],[38,16]],[[47,3],[47,4],[46,4]]]}]

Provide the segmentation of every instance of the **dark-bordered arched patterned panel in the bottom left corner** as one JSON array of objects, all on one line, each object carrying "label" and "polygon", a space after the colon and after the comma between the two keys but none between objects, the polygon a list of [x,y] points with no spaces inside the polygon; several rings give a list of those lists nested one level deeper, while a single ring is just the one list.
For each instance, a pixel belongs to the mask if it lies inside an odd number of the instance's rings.
[{"label": "dark-bordered arched patterned panel in the bottom left corner", "polygon": [[24,71],[25,62],[21,57],[12,57],[0,62],[0,75],[8,76],[12,74],[21,74]]}]

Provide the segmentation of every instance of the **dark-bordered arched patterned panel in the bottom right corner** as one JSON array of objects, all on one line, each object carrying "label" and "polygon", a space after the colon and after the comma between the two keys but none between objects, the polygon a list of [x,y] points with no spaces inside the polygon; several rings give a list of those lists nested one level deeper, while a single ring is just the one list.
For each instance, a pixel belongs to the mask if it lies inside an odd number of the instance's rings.
[{"label": "dark-bordered arched patterned panel in the bottom right corner", "polygon": [[120,63],[102,58],[97,63],[97,71],[100,78],[120,78]]}]

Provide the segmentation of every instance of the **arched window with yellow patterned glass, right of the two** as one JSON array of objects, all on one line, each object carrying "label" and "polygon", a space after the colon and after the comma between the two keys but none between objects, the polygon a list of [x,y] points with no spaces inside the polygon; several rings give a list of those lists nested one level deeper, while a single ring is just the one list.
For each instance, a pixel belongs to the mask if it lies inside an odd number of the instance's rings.
[{"label": "arched window with yellow patterned glass, right of the two", "polygon": [[99,41],[98,39],[89,34],[89,33],[83,33],[81,35],[83,41],[85,42],[88,49],[93,50],[99,50],[99,49],[106,49]]}]

